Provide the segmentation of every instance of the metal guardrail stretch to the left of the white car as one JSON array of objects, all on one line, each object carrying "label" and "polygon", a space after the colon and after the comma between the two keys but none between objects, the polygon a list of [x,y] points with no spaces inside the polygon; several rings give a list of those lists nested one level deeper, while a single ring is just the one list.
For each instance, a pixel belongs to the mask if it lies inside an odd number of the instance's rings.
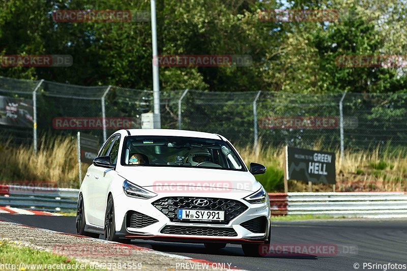
[{"label": "metal guardrail stretch to the left of the white car", "polygon": [[76,210],[79,189],[0,185],[0,206],[48,212]]}]

